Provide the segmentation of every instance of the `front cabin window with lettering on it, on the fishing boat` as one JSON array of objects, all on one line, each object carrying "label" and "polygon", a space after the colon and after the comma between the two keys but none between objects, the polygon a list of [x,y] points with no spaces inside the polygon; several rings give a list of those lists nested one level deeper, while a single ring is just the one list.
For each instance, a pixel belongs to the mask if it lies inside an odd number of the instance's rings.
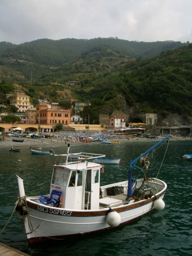
[{"label": "front cabin window with lettering on it, on the fishing boat", "polygon": [[69,180],[69,170],[54,169],[52,184],[66,187]]}]

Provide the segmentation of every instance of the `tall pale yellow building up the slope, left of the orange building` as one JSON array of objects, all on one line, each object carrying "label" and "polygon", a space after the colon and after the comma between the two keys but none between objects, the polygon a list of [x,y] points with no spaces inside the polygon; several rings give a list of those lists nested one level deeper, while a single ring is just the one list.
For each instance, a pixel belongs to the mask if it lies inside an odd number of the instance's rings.
[{"label": "tall pale yellow building up the slope, left of the orange building", "polygon": [[33,105],[30,104],[30,96],[22,93],[16,93],[9,97],[10,105],[16,106],[18,112],[25,112],[29,108],[32,108]]}]

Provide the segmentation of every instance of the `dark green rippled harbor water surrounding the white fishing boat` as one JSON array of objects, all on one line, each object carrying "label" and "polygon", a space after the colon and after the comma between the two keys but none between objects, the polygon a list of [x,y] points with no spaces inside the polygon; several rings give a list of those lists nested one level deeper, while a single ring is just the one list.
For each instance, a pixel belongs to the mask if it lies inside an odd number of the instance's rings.
[{"label": "dark green rippled harbor water surrounding the white fishing boat", "polygon": [[[130,160],[156,144],[128,142],[101,144],[91,142],[73,143],[71,152],[106,154],[106,158],[121,158],[119,165],[106,165],[101,174],[101,185],[128,179]],[[164,148],[154,154],[150,175],[156,177]],[[56,154],[65,154],[66,145],[51,147]],[[43,146],[42,150],[49,150]],[[70,237],[60,242],[29,246],[22,230],[22,222],[14,212],[10,222],[0,235],[0,242],[33,256],[188,256],[192,255],[192,161],[182,158],[192,154],[192,140],[170,140],[166,157],[158,178],[164,180],[168,190],[164,196],[165,208],[154,210],[138,220],[113,230],[79,237]],[[53,156],[33,155],[28,146],[21,152],[9,152],[0,148],[0,231],[8,222],[18,197],[16,175],[24,180],[25,194],[47,194],[50,188]],[[157,164],[158,162],[158,164]]]}]

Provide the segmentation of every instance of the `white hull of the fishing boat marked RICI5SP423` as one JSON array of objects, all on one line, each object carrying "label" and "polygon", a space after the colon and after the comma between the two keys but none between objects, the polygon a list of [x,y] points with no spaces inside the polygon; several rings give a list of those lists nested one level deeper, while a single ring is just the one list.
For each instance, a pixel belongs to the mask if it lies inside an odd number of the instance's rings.
[{"label": "white hull of the fishing boat marked RICI5SP423", "polygon": [[[166,191],[166,184],[161,180],[156,181],[160,184],[162,190],[155,196],[162,199]],[[124,182],[124,184],[127,185],[127,182]],[[111,185],[120,185],[120,183]],[[102,189],[105,190],[106,186],[103,186]],[[35,202],[38,198],[26,198],[29,214],[24,219],[24,226],[29,244],[114,228],[106,221],[110,206],[98,210],[64,209]],[[120,215],[119,225],[123,225],[148,214],[154,209],[153,204],[154,196],[138,202],[130,201],[128,203],[127,201],[127,204],[114,206],[112,209]],[[32,228],[30,228],[31,225]],[[34,231],[32,232],[31,229],[34,229]]]}]

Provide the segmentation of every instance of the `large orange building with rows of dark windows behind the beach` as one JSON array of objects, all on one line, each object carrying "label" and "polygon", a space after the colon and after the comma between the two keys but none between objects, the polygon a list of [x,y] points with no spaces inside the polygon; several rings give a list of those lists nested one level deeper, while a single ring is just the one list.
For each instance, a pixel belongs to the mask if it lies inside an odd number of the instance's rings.
[{"label": "large orange building with rows of dark windows behind the beach", "polygon": [[55,126],[56,124],[70,124],[70,110],[68,109],[49,109],[47,104],[36,105],[36,118],[39,124],[48,124]]}]

